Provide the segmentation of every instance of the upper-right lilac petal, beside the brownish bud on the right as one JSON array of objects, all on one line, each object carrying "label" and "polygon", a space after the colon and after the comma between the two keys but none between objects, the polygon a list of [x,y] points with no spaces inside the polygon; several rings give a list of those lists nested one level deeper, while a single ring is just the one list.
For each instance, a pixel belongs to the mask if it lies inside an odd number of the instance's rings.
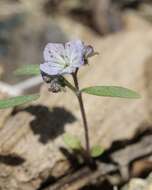
[{"label": "upper-right lilac petal, beside the brownish bud on the right", "polygon": [[75,40],[65,44],[66,55],[71,66],[80,67],[84,64],[84,47],[81,40]]}]

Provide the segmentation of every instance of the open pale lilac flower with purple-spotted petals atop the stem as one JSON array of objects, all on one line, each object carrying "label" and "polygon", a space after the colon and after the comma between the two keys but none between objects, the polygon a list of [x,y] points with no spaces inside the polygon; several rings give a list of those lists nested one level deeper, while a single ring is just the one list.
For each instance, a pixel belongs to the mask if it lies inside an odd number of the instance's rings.
[{"label": "open pale lilac flower with purple-spotted petals atop the stem", "polygon": [[41,72],[50,76],[74,73],[85,63],[85,48],[80,40],[47,44],[44,49],[44,63],[40,65]]}]

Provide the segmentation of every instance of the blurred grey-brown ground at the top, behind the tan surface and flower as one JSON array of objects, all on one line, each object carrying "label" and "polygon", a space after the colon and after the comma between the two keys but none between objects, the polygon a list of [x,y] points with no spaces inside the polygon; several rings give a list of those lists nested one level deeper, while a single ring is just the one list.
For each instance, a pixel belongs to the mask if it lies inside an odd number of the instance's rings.
[{"label": "blurred grey-brown ground at the top, behind the tan surface and flower", "polygon": [[69,20],[71,27],[79,23],[105,38],[125,30],[129,24],[127,12],[133,13],[133,19],[138,15],[151,24],[150,0],[1,0],[1,80],[16,84],[21,79],[11,76],[12,71],[25,64],[40,64],[47,42],[69,40],[73,33],[70,26],[65,30]]}]

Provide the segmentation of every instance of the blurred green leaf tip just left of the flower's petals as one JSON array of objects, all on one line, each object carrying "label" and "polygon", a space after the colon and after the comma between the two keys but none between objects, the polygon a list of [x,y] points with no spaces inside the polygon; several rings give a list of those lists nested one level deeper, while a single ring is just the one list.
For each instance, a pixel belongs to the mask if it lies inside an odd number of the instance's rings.
[{"label": "blurred green leaf tip just left of the flower's petals", "polygon": [[40,75],[39,65],[24,65],[17,69],[15,75]]}]

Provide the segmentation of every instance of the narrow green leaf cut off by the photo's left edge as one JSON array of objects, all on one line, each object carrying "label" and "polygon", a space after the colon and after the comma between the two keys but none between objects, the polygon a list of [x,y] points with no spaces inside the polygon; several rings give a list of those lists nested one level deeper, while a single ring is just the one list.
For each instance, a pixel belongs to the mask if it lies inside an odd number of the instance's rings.
[{"label": "narrow green leaf cut off by the photo's left edge", "polygon": [[28,95],[28,96],[17,96],[14,98],[0,100],[0,109],[6,109],[6,108],[26,104],[31,101],[37,100],[39,97],[40,95],[35,94],[35,95]]}]

